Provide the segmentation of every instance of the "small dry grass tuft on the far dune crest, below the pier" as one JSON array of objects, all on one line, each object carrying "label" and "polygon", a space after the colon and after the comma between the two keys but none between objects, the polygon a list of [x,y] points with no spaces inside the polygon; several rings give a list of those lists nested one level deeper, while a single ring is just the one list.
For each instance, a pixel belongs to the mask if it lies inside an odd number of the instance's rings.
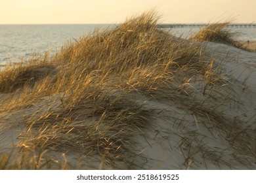
[{"label": "small dry grass tuft on the far dune crest, below the pier", "polygon": [[242,48],[242,44],[236,41],[237,33],[232,33],[227,26],[230,22],[213,23],[203,27],[198,33],[190,37],[193,41],[211,41],[229,44],[237,48]]}]

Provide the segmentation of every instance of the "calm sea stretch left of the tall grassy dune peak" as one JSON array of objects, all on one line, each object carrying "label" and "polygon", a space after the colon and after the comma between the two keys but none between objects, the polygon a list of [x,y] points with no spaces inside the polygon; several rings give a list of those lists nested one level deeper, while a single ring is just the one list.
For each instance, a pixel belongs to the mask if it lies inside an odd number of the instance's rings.
[{"label": "calm sea stretch left of the tall grassy dune peak", "polygon": [[105,24],[85,25],[0,25],[0,64],[29,59],[33,53],[59,49]]}]

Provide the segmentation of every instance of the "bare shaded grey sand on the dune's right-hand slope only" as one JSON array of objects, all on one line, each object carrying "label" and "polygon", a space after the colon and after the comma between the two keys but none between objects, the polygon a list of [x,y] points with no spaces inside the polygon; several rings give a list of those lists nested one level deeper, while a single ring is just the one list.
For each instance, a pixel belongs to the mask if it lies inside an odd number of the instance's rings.
[{"label": "bare shaded grey sand on the dune's right-hand slope only", "polygon": [[[240,119],[245,126],[256,128],[256,54],[246,52],[232,46],[215,42],[206,42],[207,50],[217,56],[217,62],[222,65],[226,76],[236,78],[231,84],[235,91],[238,106],[228,108],[228,103],[219,108],[227,118]],[[232,59],[230,59],[232,58]],[[195,86],[194,86],[195,87]],[[246,88],[246,90],[245,90]],[[256,159],[251,157],[248,163],[241,164],[234,159],[235,151],[230,148],[228,141],[221,137],[220,131],[209,131],[202,123],[197,123],[193,114],[182,108],[179,103],[169,101],[148,102],[151,108],[158,108],[160,114],[156,116],[158,131],[152,131],[146,140],[141,139],[141,151],[144,154],[148,169],[256,169]],[[175,127],[173,119],[179,119],[186,129]],[[254,132],[253,132],[254,133]],[[212,154],[196,154],[190,158],[182,152],[177,144],[183,138],[194,138],[190,148],[211,149]],[[250,139],[249,139],[250,140]],[[143,142],[144,141],[144,142]],[[148,144],[147,144],[148,143]],[[183,147],[184,149],[187,146]],[[217,158],[221,154],[222,163],[213,163],[209,156]],[[186,161],[184,161],[184,156]],[[208,156],[207,158],[203,156]]]}]

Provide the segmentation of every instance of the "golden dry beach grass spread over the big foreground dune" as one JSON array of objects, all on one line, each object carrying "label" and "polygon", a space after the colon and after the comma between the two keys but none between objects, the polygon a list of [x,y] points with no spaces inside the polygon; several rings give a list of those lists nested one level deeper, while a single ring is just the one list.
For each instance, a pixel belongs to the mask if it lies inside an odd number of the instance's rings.
[{"label": "golden dry beach grass spread over the big foreground dune", "polygon": [[[21,155],[0,155],[1,169],[143,169],[135,137],[154,130],[158,113],[140,101],[143,97],[181,103],[196,122],[221,131],[238,156],[255,156],[253,142],[247,142],[251,131],[213,110],[231,92],[221,89],[228,81],[202,42],[173,37],[157,24],[154,12],[144,13],[69,42],[54,56],[1,71],[0,122],[8,119],[12,127],[23,127],[14,146]],[[181,126],[177,129],[186,128]],[[209,161],[221,161],[220,152],[194,146],[192,135],[184,136],[178,146],[186,167],[199,152]],[[250,148],[240,149],[245,142]],[[74,165],[57,154],[75,154],[77,161]]]}]

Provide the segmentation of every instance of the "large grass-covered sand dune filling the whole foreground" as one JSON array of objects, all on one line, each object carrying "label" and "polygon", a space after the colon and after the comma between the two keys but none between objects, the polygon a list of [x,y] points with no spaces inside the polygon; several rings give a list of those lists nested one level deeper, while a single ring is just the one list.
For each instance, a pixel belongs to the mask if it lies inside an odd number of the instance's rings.
[{"label": "large grass-covered sand dune filling the whole foreground", "polygon": [[3,70],[0,169],[255,170],[256,53],[157,22]]}]

